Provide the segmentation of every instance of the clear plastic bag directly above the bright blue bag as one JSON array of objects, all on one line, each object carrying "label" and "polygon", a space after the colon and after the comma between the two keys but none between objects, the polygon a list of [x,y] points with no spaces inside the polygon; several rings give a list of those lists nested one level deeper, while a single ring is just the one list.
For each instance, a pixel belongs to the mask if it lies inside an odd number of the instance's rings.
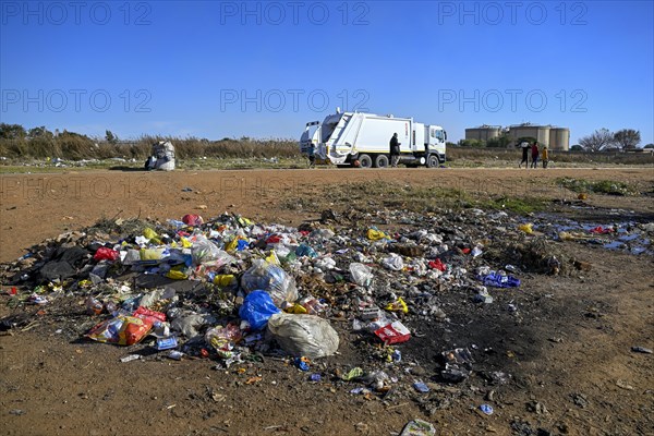
[{"label": "clear plastic bag directly above the bright blue bag", "polygon": [[252,267],[243,274],[241,288],[245,293],[256,290],[268,292],[277,307],[281,307],[284,302],[293,303],[298,300],[295,279],[281,267],[263,259],[254,261]]}]

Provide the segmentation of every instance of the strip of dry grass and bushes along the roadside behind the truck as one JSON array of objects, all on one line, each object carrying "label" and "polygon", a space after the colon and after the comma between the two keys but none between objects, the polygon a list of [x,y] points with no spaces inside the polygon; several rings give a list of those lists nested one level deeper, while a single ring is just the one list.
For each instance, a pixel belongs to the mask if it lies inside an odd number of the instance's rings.
[{"label": "strip of dry grass and bushes along the roadside behind the truck", "polygon": [[[613,137],[613,136],[611,136]],[[501,140],[501,138],[500,138]],[[497,144],[452,143],[447,148],[450,168],[513,168],[520,150]],[[51,172],[83,169],[140,169],[158,141],[170,141],[175,147],[177,168],[251,169],[306,168],[298,142],[290,138],[225,137],[209,141],[197,137],[143,135],[120,141],[110,131],[105,137],[89,137],[74,132],[50,132],[44,126],[25,130],[17,124],[0,123],[0,172]],[[471,140],[472,141],[472,140]],[[647,152],[645,149],[644,152]],[[549,152],[549,168],[601,166],[653,166],[651,153],[623,152]]]}]

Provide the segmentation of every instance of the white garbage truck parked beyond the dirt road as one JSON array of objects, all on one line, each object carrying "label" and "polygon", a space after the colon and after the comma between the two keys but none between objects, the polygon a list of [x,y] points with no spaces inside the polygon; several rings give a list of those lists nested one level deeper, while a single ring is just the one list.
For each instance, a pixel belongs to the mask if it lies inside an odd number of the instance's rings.
[{"label": "white garbage truck parked beyond the dirt road", "polygon": [[408,167],[437,168],[445,162],[447,133],[412,118],[341,112],[320,123],[306,123],[300,138],[301,153],[315,156],[316,164],[339,167],[385,168],[390,164],[390,138],[398,134],[400,160]]}]

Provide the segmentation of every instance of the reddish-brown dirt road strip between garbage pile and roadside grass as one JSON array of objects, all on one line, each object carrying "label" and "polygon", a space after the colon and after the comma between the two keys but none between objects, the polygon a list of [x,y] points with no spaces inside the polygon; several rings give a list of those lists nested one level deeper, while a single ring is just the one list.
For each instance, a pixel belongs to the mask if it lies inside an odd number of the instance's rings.
[{"label": "reddish-brown dirt road strip between garbage pile and roadside grass", "polygon": [[[0,262],[15,259],[32,244],[93,225],[102,217],[165,220],[180,219],[190,213],[211,217],[230,210],[255,219],[296,225],[312,215],[284,210],[278,201],[284,195],[301,195],[315,185],[386,180],[445,186],[477,195],[572,198],[574,195],[569,191],[554,186],[555,180],[565,177],[651,184],[654,169],[316,169],[3,174],[0,175]],[[619,197],[590,199],[591,204],[609,202],[616,207],[620,207],[623,201]]]}]

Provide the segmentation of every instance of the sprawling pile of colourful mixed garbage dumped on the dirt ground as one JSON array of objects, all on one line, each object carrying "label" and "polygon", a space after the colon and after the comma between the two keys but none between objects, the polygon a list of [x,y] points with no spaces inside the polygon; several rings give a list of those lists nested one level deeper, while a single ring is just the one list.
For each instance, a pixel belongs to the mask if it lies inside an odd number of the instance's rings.
[{"label": "sprawling pile of colourful mixed garbage dumped on the dirt ground", "polygon": [[[391,223],[402,229],[383,230]],[[14,310],[0,328],[29,323],[27,307],[56,306],[63,322],[65,311],[76,319],[86,312],[78,334],[88,340],[140,344],[174,360],[210,359],[217,367],[275,355],[301,371],[337,354],[343,338],[358,337],[377,361],[332,375],[360,383],[352,393],[385,395],[407,374],[398,365],[415,370],[402,346],[415,340],[421,325],[448,322],[444,294],[457,290],[472,304],[491,305],[496,290],[519,288],[523,274],[574,266],[524,226],[506,213],[479,209],[355,217],[327,210],[299,228],[235,214],[104,220],[0,267]],[[438,379],[465,380],[474,350],[438,350]],[[135,359],[142,355],[123,362]],[[402,378],[410,389],[434,388],[420,371],[410,373]],[[491,383],[507,377],[488,373]]]}]

